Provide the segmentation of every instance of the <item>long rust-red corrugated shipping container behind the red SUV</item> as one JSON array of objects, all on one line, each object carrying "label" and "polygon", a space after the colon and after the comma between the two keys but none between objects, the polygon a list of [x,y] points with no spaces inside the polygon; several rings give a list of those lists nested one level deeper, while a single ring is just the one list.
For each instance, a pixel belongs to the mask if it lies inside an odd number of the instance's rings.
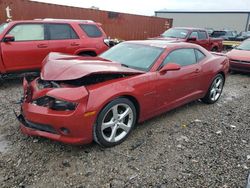
[{"label": "long rust-red corrugated shipping container behind the red SUV", "polygon": [[102,24],[111,38],[123,40],[159,36],[172,26],[172,19],[119,12],[77,8],[28,0],[0,0],[0,22],[36,18],[94,20]]}]

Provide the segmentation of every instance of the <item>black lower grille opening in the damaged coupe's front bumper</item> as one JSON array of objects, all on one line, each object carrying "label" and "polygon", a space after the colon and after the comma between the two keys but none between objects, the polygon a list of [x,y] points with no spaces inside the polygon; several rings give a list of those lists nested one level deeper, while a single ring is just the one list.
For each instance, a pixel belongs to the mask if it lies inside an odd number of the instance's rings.
[{"label": "black lower grille opening in the damaged coupe's front bumper", "polygon": [[31,129],[35,129],[35,130],[39,130],[39,131],[43,131],[43,132],[48,132],[48,133],[53,133],[53,134],[57,134],[56,130],[51,127],[50,125],[44,125],[44,124],[40,124],[40,123],[33,123],[30,122],[28,120],[26,120],[23,115],[19,115],[17,117],[17,119],[25,126]]}]

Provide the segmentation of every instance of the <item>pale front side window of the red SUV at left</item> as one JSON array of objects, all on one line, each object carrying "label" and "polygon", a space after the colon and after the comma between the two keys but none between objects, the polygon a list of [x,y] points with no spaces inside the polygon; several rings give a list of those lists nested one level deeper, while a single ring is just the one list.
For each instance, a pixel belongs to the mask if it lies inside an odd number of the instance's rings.
[{"label": "pale front side window of the red SUV at left", "polygon": [[15,41],[44,40],[43,24],[18,24],[8,33],[15,37]]}]

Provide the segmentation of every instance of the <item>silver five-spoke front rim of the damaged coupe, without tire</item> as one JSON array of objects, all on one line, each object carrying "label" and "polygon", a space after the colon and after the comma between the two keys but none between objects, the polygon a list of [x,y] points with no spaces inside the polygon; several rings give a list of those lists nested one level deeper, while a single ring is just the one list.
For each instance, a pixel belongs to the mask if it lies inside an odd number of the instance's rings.
[{"label": "silver five-spoke front rim of the damaged coupe, without tire", "polygon": [[119,142],[130,132],[133,122],[134,115],[131,107],[125,103],[116,104],[102,119],[102,136],[107,142]]}]

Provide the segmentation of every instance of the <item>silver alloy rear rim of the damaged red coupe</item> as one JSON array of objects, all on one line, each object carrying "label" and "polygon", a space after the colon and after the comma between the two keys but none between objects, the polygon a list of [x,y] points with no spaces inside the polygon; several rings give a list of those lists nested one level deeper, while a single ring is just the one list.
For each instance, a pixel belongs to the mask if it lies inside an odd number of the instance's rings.
[{"label": "silver alloy rear rim of the damaged red coupe", "polygon": [[223,77],[218,76],[217,78],[215,78],[210,90],[211,101],[217,101],[219,99],[223,89],[223,85],[224,85]]}]

